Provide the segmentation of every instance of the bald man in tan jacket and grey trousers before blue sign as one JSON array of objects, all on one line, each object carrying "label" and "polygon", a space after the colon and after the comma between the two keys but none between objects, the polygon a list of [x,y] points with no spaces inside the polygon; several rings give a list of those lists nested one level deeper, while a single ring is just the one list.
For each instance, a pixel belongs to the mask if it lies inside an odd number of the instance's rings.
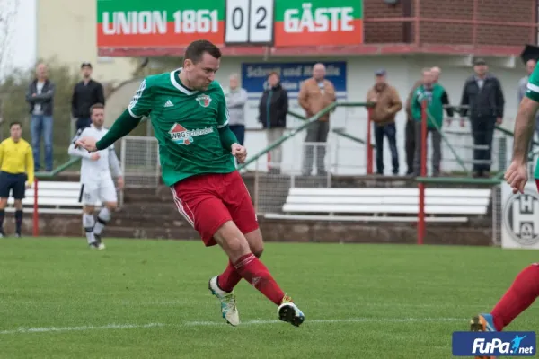
[{"label": "bald man in tan jacket and grey trousers before blue sign", "polygon": [[[330,80],[325,78],[325,66],[318,63],[313,66],[313,77],[302,83],[297,97],[299,105],[305,109],[306,117],[311,118],[321,110],[336,101],[335,87]],[[319,176],[326,175],[324,164],[328,133],[330,132],[330,114],[327,113],[319,118],[311,126],[307,127],[306,143],[319,143],[316,148],[316,172]],[[302,173],[310,176],[313,171],[314,145],[305,145],[304,164]]]}]

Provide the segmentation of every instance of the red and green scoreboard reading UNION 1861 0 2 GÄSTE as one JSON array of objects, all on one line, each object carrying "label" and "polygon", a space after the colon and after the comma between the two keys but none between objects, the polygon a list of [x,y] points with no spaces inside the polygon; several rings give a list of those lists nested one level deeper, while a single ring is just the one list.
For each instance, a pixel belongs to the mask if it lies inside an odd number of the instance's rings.
[{"label": "red and green scoreboard reading UNION 1861 0 2 G\u00c4STE", "polygon": [[97,0],[98,48],[276,47],[363,42],[360,0]]}]

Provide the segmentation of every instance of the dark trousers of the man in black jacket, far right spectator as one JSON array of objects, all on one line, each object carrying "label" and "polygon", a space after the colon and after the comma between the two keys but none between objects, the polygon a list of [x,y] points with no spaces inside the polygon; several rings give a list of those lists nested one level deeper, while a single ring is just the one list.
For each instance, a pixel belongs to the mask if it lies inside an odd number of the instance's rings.
[{"label": "dark trousers of the man in black jacket, far right spectator", "polygon": [[488,146],[487,149],[473,149],[473,172],[482,176],[490,172],[492,158],[492,136],[496,118],[471,118],[474,146]]}]

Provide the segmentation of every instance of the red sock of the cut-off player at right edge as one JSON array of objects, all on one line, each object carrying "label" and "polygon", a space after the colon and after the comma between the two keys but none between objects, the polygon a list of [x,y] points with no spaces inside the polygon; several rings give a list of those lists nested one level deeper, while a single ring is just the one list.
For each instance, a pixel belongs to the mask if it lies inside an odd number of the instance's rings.
[{"label": "red sock of the cut-off player at right edge", "polygon": [[496,330],[502,330],[526,311],[539,296],[539,264],[535,263],[520,272],[508,291],[494,307],[492,317]]}]

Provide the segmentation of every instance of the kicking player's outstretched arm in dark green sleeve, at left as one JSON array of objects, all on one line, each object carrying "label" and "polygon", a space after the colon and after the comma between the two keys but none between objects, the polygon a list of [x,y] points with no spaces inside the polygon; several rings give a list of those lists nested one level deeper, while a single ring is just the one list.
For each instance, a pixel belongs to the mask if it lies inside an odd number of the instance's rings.
[{"label": "kicking player's outstretched arm in dark green sleeve, at left", "polygon": [[149,116],[152,110],[152,87],[147,83],[147,79],[143,80],[138,87],[137,92],[129,103],[126,109],[119,118],[114,121],[109,131],[97,141],[95,146],[97,150],[104,150],[114,144],[121,137],[127,136],[129,132],[134,130],[140,120],[144,116]]}]

